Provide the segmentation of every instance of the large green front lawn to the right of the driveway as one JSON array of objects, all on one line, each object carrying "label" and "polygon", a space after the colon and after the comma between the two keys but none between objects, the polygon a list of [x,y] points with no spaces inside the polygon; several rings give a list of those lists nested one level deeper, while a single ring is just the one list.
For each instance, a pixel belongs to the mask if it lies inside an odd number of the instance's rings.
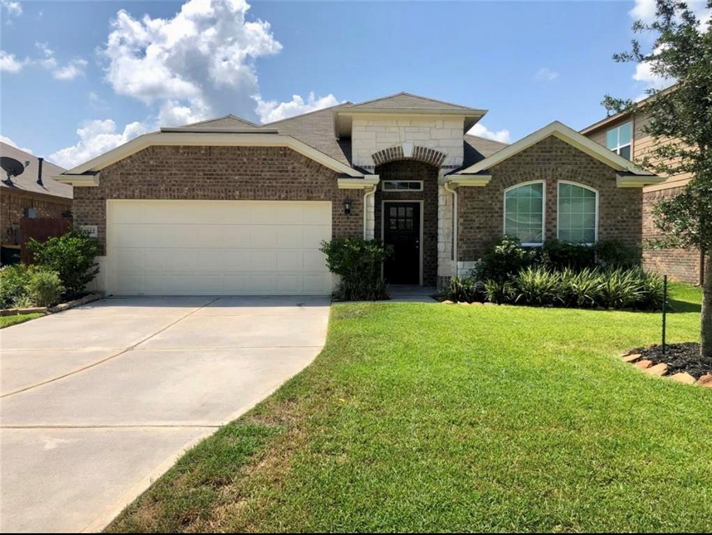
[{"label": "large green front lawn to the right of the driveway", "polygon": [[[669,341],[698,333],[674,285]],[[684,305],[684,306],[683,306]],[[617,354],[659,314],[336,304],[303,373],[113,531],[711,531],[712,391]]]}]

